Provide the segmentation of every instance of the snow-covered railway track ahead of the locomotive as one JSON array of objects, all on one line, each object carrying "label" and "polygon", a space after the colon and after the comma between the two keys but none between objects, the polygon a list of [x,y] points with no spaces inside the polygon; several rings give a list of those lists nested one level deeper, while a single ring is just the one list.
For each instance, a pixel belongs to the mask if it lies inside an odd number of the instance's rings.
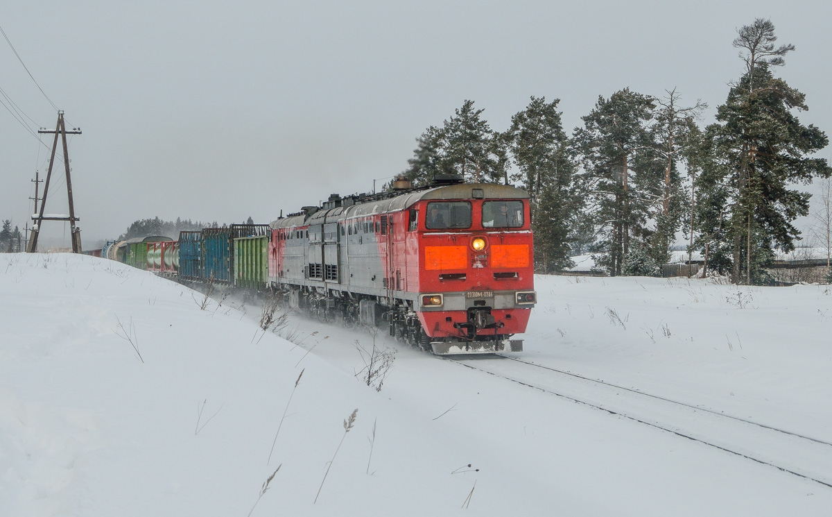
[{"label": "snow-covered railway track ahead of the locomotive", "polygon": [[443,357],[832,488],[832,442],[503,355]]}]

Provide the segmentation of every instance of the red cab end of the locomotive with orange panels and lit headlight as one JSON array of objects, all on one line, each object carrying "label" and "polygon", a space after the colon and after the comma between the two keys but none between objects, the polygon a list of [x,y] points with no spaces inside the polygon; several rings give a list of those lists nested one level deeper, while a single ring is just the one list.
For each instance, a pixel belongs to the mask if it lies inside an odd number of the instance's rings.
[{"label": "red cab end of the locomotive with orange panels and lit headlight", "polygon": [[527,196],[497,185],[442,190],[442,199],[422,199],[409,217],[420,252],[417,314],[431,349],[522,350],[510,338],[525,331],[537,301]]}]

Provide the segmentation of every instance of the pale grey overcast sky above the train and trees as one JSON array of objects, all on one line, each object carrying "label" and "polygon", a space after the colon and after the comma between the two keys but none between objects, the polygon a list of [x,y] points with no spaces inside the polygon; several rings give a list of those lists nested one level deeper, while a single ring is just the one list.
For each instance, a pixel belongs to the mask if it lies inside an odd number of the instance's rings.
[{"label": "pale grey overcast sky above the train and trees", "polygon": [[[707,102],[712,122],[743,72],[736,29],[755,17],[796,47],[775,73],[806,94],[801,121],[832,134],[821,0],[7,3],[7,37],[83,132],[69,153],[85,247],[146,217],[269,222],[371,191],[465,99],[502,131],[529,96],[559,98],[571,132],[599,95],[676,87],[683,103]],[[57,112],[2,39],[0,67],[28,127],[54,128]],[[48,149],[3,107],[0,149],[0,218],[22,229]],[[67,213],[62,176],[48,212]],[[69,246],[62,222],[47,235]]]}]

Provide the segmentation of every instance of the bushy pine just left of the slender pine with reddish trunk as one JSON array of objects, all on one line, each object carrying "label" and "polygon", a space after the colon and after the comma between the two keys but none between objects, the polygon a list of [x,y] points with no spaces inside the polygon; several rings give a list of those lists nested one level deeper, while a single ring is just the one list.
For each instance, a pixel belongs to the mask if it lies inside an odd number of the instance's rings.
[{"label": "bushy pine just left of the slender pine with reddish trunk", "polygon": [[[600,263],[612,276],[622,274],[631,237],[647,236],[644,223],[655,196],[641,189],[654,182],[646,176],[653,148],[648,128],[655,107],[653,97],[629,88],[609,99],[598,97],[592,112],[582,117],[584,127],[573,137],[585,170],[580,179],[588,210],[606,236]],[[647,165],[638,167],[640,163]]]}]

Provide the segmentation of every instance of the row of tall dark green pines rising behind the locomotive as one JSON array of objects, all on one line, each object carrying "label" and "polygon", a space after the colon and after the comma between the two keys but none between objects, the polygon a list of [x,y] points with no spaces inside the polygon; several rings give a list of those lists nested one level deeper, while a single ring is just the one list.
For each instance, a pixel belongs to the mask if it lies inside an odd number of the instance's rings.
[{"label": "row of tall dark green pines rising behind the locomotive", "polygon": [[775,46],[769,20],[737,32],[744,66],[711,125],[697,123],[706,105],[683,102],[675,89],[600,96],[571,136],[559,99],[532,96],[504,132],[466,100],[418,137],[403,174],[415,186],[448,173],[521,186],[531,200],[537,271],[562,271],[570,256],[592,253],[611,276],[657,276],[683,234],[706,271],[735,284],[769,283],[765,266],[775,250],[795,248],[792,223],[809,214],[810,194],[789,186],[826,178],[815,233],[832,251],[832,169],[811,157],[829,140],[795,115],[808,109],[805,95],[775,77],[795,47]]}]

